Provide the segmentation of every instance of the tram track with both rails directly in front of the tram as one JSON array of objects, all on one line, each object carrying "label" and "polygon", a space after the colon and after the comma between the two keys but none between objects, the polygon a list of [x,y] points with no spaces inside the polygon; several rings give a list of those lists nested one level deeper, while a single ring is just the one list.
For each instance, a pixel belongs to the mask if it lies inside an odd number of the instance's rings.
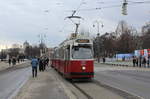
[{"label": "tram track with both rails directly in front of the tram", "polygon": [[87,99],[142,99],[93,79],[91,82],[71,82]]}]

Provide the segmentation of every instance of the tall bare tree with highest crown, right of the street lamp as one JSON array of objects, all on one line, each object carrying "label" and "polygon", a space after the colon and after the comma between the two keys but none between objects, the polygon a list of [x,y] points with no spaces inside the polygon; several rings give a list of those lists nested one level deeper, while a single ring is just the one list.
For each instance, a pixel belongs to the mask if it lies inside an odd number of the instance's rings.
[{"label": "tall bare tree with highest crown, right of the street lamp", "polygon": [[116,29],[117,36],[117,52],[118,53],[132,53],[140,44],[137,35],[137,30],[128,26],[125,21],[120,21]]}]

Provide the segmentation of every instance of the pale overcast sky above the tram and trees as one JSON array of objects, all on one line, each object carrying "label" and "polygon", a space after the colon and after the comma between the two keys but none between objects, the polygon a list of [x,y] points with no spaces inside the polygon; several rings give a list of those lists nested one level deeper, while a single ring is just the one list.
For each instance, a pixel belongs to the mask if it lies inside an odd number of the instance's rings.
[{"label": "pale overcast sky above the tram and trees", "polygon": [[[76,13],[84,18],[80,29],[91,35],[96,35],[96,28],[92,27],[95,20],[104,24],[101,33],[115,31],[120,20],[137,29],[150,21],[150,3],[128,5],[128,15],[124,16],[121,6],[105,8],[121,5],[123,0],[0,0],[0,47],[21,44],[25,40],[37,44],[39,34],[46,35],[45,42],[49,47],[57,46],[73,31],[73,23],[64,19],[72,14],[71,10],[78,8],[81,1],[84,3]],[[100,7],[101,10],[80,11]]]}]

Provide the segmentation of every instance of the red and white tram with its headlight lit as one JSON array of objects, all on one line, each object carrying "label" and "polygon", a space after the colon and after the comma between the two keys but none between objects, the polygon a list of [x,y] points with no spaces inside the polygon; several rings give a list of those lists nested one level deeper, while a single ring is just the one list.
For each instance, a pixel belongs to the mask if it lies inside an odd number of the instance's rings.
[{"label": "red and white tram with its headlight lit", "polygon": [[65,78],[93,78],[93,42],[89,37],[65,40],[54,49],[51,66]]}]

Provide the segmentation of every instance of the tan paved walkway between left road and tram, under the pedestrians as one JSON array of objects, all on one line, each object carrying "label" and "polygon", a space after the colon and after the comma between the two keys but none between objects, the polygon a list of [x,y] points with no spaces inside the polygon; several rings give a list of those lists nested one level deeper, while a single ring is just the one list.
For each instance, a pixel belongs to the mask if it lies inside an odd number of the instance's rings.
[{"label": "tan paved walkway between left road and tram, under the pedestrians", "polygon": [[50,67],[38,72],[37,78],[30,77],[14,99],[69,99],[61,81],[55,77]]}]

